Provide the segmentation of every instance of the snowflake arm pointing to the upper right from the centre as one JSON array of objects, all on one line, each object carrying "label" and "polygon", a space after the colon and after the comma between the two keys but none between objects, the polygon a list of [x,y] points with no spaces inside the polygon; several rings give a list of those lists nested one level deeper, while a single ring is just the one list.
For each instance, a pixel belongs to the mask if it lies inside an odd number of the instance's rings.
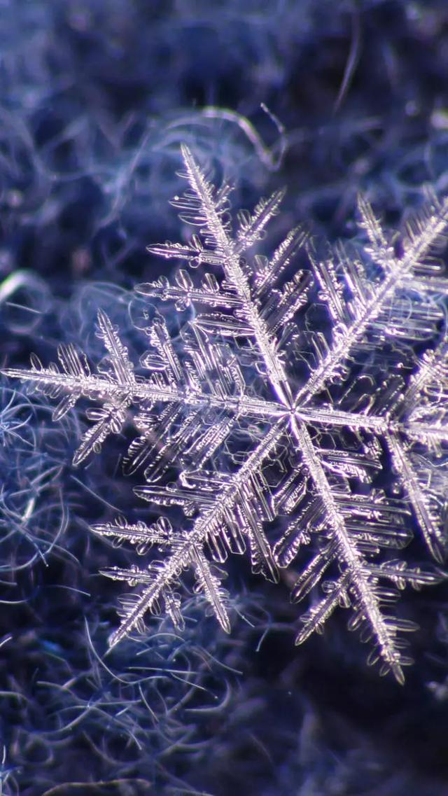
[{"label": "snowflake arm pointing to the upper right from the centre", "polygon": [[[429,318],[427,307],[415,305],[414,314],[407,318],[407,326],[403,328],[396,294],[405,287],[408,290],[417,287],[414,283],[415,274],[419,275],[422,270],[424,273],[423,258],[438,244],[446,229],[448,199],[442,204],[433,200],[432,205],[422,213],[422,217],[415,221],[415,226],[408,229],[403,241],[405,253],[401,258],[395,256],[393,248],[386,244],[384,235],[380,232],[379,221],[374,217],[368,202],[362,199],[360,216],[361,225],[368,232],[369,245],[366,252],[376,257],[383,278],[377,285],[368,283],[360,262],[350,259],[341,246],[337,249],[336,259],[322,261],[310,249],[314,273],[321,287],[321,298],[328,305],[334,324],[333,345],[323,356],[317,357],[316,367],[296,397],[295,405],[298,407],[312,400],[325,388],[325,384],[341,377],[345,361],[360,345],[365,345],[365,335],[369,329],[379,330],[388,337],[407,334],[411,338],[415,334],[416,339],[426,332],[424,324]],[[343,287],[338,276],[347,272],[350,274],[349,287],[352,293],[349,302],[343,298]],[[419,284],[420,282],[419,279]],[[394,302],[397,302],[396,311]],[[430,329],[434,328],[434,324],[441,317],[442,314],[438,313],[434,319],[429,318]]]}]

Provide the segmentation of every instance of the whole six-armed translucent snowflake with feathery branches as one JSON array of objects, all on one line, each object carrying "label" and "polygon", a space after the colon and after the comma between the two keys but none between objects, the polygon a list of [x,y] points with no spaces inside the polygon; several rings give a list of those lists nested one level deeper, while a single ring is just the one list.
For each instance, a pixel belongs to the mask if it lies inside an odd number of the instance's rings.
[{"label": "whole six-armed translucent snowflake with feathery branches", "polygon": [[[403,682],[411,659],[401,633],[415,625],[393,615],[392,603],[406,585],[441,574],[394,556],[412,525],[438,563],[445,548],[448,282],[435,255],[448,201],[428,197],[393,239],[360,198],[362,249],[339,245],[320,257],[297,228],[268,259],[254,252],[282,192],[241,211],[234,231],[228,185],[216,189],[185,146],[182,157],[188,188],[172,204],[196,232],[187,243],[150,247],[182,261],[173,281],[136,287],[179,316],[194,307],[181,334],[173,338],[164,316],[148,313],[142,375],[99,310],[107,357],[96,372],[73,345],[60,345],[57,365],[33,357],[31,369],[5,371],[57,399],[54,419],[81,397],[92,400],[76,465],[132,423],[124,469],[142,470],[138,497],[166,507],[151,525],[117,517],[92,527],[145,560],[103,571],[140,587],[122,600],[111,646],[148,611],[183,626],[187,569],[228,631],[220,565],[247,549],[254,572],[277,581],[279,568],[290,568],[292,599],[310,595],[298,644],[336,607],[350,608],[350,629],[372,643],[369,663]],[[303,247],[310,268],[294,271]]]}]

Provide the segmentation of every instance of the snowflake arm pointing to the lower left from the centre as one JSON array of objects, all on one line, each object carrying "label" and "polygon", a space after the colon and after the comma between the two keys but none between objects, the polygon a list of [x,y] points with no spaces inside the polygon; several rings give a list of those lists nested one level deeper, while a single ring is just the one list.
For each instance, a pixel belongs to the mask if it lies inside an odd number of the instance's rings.
[{"label": "snowflake arm pointing to the lower left from the centre", "polygon": [[[278,579],[277,568],[271,556],[269,544],[264,537],[263,528],[256,520],[254,506],[251,505],[252,493],[248,485],[262,466],[263,460],[275,449],[279,438],[280,423],[281,421],[271,428],[271,431],[249,455],[240,471],[229,479],[220,494],[220,500],[213,501],[208,510],[203,510],[194,521],[193,528],[188,532],[174,533],[171,529],[168,534],[161,537],[158,528],[147,529],[142,524],[135,526],[125,523],[123,525],[122,521],[92,526],[94,533],[105,537],[116,537],[120,544],[125,540],[131,541],[131,544],[143,544],[141,549],[144,553],[152,544],[169,549],[166,559],[157,562],[148,576],[150,583],[140,595],[134,595],[132,601],[127,603],[127,607],[123,611],[123,621],[110,639],[111,646],[118,644],[131,634],[134,628],[140,626],[146,612],[158,610],[159,601],[164,599],[166,588],[169,587],[169,590],[172,590],[174,583],[177,583],[185,568],[195,570],[201,591],[204,592],[205,598],[211,604],[218,622],[224,630],[229,629],[225,595],[220,589],[218,576],[212,572],[205,558],[203,552],[205,544],[212,550],[213,557],[222,563],[228,552],[244,551],[243,538],[245,537],[251,549],[254,570],[263,572],[271,579]],[[157,497],[151,486],[139,487],[135,492],[138,497],[149,499],[151,502],[160,501],[162,505],[165,504],[166,499],[170,499],[163,496]],[[191,501],[193,497],[189,499]],[[177,495],[173,494],[173,501],[176,500]],[[234,520],[236,506],[240,510],[240,519],[243,520],[240,526],[236,525]],[[169,529],[170,527],[169,524]],[[115,577],[114,572],[116,575],[116,570],[109,570],[107,575]],[[119,572],[117,579],[127,579],[133,583],[136,580],[133,570],[127,571],[129,578],[123,577],[123,571]],[[137,579],[137,582],[141,583],[142,580]]]}]

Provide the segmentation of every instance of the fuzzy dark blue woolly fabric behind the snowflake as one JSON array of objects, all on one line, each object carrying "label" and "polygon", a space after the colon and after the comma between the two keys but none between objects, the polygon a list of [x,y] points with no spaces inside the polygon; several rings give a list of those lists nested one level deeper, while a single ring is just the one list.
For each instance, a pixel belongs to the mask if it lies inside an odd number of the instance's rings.
[{"label": "fuzzy dark blue woolly fabric behind the snowflake", "polygon": [[[447,73],[445,0],[0,0],[2,364],[61,340],[97,361],[98,306],[141,345],[128,291],[166,272],[145,248],[178,237],[182,141],[237,182],[235,207],[286,185],[279,233],[351,236],[360,189],[389,224],[423,183],[446,195]],[[2,388],[3,794],[446,794],[446,588],[407,598],[421,630],[403,689],[366,667],[344,615],[294,648],[286,587],[243,565],[250,621],[231,638],[192,603],[184,637],[154,620],[102,663],[117,589],[87,526],[108,504],[142,516],[123,448],[74,471],[76,419],[56,428]]]}]

